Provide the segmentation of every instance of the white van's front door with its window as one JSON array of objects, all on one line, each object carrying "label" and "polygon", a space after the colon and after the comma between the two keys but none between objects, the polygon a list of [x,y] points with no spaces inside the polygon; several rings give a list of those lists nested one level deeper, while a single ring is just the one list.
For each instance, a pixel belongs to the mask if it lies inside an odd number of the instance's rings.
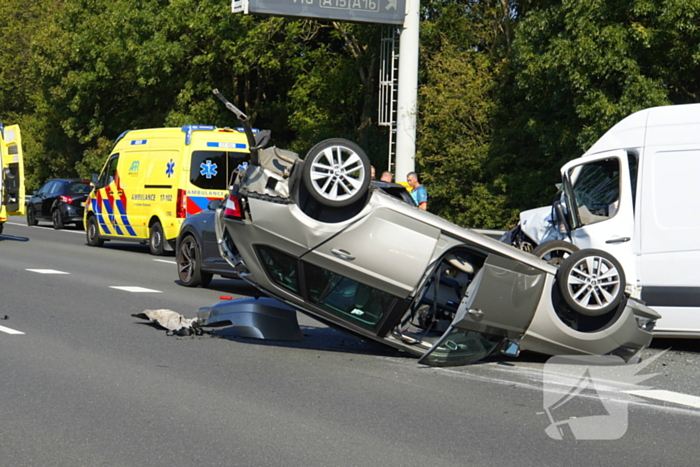
[{"label": "white van's front door with its window", "polygon": [[562,167],[571,227],[579,248],[607,251],[635,283],[634,236],[637,155],[624,150],[601,153]]}]

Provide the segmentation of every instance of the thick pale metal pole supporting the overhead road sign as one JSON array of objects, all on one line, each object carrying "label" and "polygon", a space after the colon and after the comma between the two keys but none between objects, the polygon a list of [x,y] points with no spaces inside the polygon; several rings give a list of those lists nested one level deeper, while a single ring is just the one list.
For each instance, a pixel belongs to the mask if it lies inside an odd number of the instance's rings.
[{"label": "thick pale metal pole supporting the overhead road sign", "polygon": [[420,0],[406,0],[406,19],[399,37],[399,92],[396,122],[396,181],[415,170],[418,111],[418,46]]}]

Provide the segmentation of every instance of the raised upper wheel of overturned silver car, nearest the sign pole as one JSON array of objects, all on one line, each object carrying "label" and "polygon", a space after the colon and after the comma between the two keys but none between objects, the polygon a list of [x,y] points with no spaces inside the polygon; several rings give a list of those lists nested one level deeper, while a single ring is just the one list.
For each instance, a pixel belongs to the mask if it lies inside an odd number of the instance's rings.
[{"label": "raised upper wheel of overturned silver car, nearest the sign pole", "polygon": [[319,203],[329,207],[347,206],[361,199],[369,189],[369,158],[352,141],[327,139],[306,154],[302,177]]}]

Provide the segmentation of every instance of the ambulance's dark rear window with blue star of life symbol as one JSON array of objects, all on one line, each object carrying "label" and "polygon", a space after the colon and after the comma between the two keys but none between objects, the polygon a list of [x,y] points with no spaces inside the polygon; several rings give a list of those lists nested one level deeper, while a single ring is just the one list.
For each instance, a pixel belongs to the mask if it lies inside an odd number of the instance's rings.
[{"label": "ambulance's dark rear window with blue star of life symbol", "polygon": [[194,151],[190,182],[205,190],[228,189],[228,178],[248,153],[233,151]]}]

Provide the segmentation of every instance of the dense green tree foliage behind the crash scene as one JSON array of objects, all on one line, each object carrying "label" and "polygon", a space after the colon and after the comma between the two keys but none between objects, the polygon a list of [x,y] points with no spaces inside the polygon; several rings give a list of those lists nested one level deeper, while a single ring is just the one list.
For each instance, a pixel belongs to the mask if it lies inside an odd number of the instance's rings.
[{"label": "dense green tree foliage behind the crash scene", "polygon": [[[548,204],[560,165],[645,107],[700,98],[700,0],[424,0],[416,165],[430,209],[505,228]],[[234,15],[221,0],[0,4],[0,121],[20,123],[27,186],[87,177],[124,130],[237,125],[328,137],[386,165],[382,26]],[[397,174],[402,178],[405,174]]]}]

